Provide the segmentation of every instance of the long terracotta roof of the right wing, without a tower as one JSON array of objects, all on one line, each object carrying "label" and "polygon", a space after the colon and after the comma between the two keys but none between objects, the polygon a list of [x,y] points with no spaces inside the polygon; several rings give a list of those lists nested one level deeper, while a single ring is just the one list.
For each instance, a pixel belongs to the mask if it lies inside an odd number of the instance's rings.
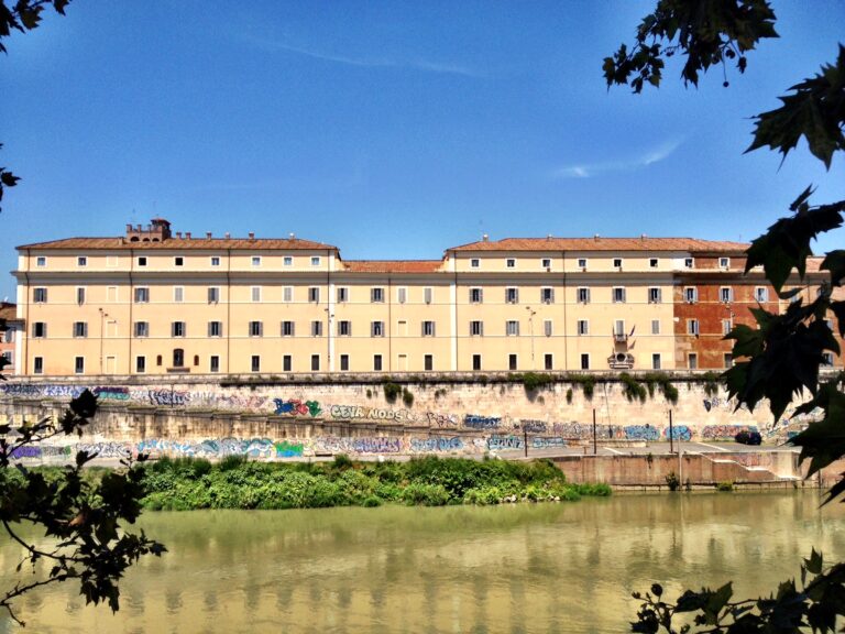
[{"label": "long terracotta roof of the right wing, without a tower", "polygon": [[470,242],[448,251],[745,251],[745,242],[695,238],[504,238]]}]

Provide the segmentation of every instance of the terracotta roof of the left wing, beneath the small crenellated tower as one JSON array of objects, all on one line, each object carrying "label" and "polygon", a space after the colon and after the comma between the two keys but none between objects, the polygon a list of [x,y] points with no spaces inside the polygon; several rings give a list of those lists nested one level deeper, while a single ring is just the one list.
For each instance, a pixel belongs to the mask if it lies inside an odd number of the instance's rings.
[{"label": "terracotta roof of the left wing, beneath the small crenellated tower", "polygon": [[337,247],[323,244],[322,242],[312,242],[311,240],[294,240],[282,238],[168,238],[163,242],[130,242],[125,238],[66,238],[64,240],[53,240],[51,242],[35,242],[33,244],[22,244],[18,249],[135,249],[149,251],[165,250],[337,250]]}]

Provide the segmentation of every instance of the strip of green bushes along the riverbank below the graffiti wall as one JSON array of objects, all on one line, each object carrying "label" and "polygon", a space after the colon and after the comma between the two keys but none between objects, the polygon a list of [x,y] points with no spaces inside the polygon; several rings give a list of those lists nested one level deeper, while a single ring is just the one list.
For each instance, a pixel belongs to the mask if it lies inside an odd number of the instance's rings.
[{"label": "strip of green bushes along the riverbank below the graffiti wall", "polygon": [[606,484],[572,484],[548,460],[421,458],[408,462],[255,462],[230,457],[163,458],[144,467],[152,510],[319,509],[385,503],[442,506],[574,501],[610,495]]}]

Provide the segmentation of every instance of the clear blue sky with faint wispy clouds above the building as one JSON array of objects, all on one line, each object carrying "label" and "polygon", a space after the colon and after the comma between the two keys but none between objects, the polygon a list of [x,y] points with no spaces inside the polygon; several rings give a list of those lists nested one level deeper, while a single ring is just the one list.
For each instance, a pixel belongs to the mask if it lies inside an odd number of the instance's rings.
[{"label": "clear blue sky with faint wispy clouds above the building", "polygon": [[603,57],[651,7],[75,0],[0,57],[0,165],[24,178],[0,267],[156,215],[428,259],[482,233],[749,240],[810,183],[845,197],[841,157],[743,155],[748,118],[835,58],[845,4],[775,1],[781,39],[729,88],[670,64],[659,90],[607,91]]}]

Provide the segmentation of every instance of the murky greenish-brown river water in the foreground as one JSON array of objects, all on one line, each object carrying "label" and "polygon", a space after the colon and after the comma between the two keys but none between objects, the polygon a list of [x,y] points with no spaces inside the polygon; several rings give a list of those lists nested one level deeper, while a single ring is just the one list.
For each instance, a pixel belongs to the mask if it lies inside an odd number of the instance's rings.
[{"label": "murky greenish-brown river water in the foreground", "polygon": [[[630,592],[654,581],[671,598],[729,579],[760,593],[797,576],[811,545],[845,558],[845,510],[819,502],[797,491],[147,513],[169,553],[132,569],[116,615],[69,584],[19,609],[37,633],[626,632]],[[0,569],[18,554],[3,542]]]}]

